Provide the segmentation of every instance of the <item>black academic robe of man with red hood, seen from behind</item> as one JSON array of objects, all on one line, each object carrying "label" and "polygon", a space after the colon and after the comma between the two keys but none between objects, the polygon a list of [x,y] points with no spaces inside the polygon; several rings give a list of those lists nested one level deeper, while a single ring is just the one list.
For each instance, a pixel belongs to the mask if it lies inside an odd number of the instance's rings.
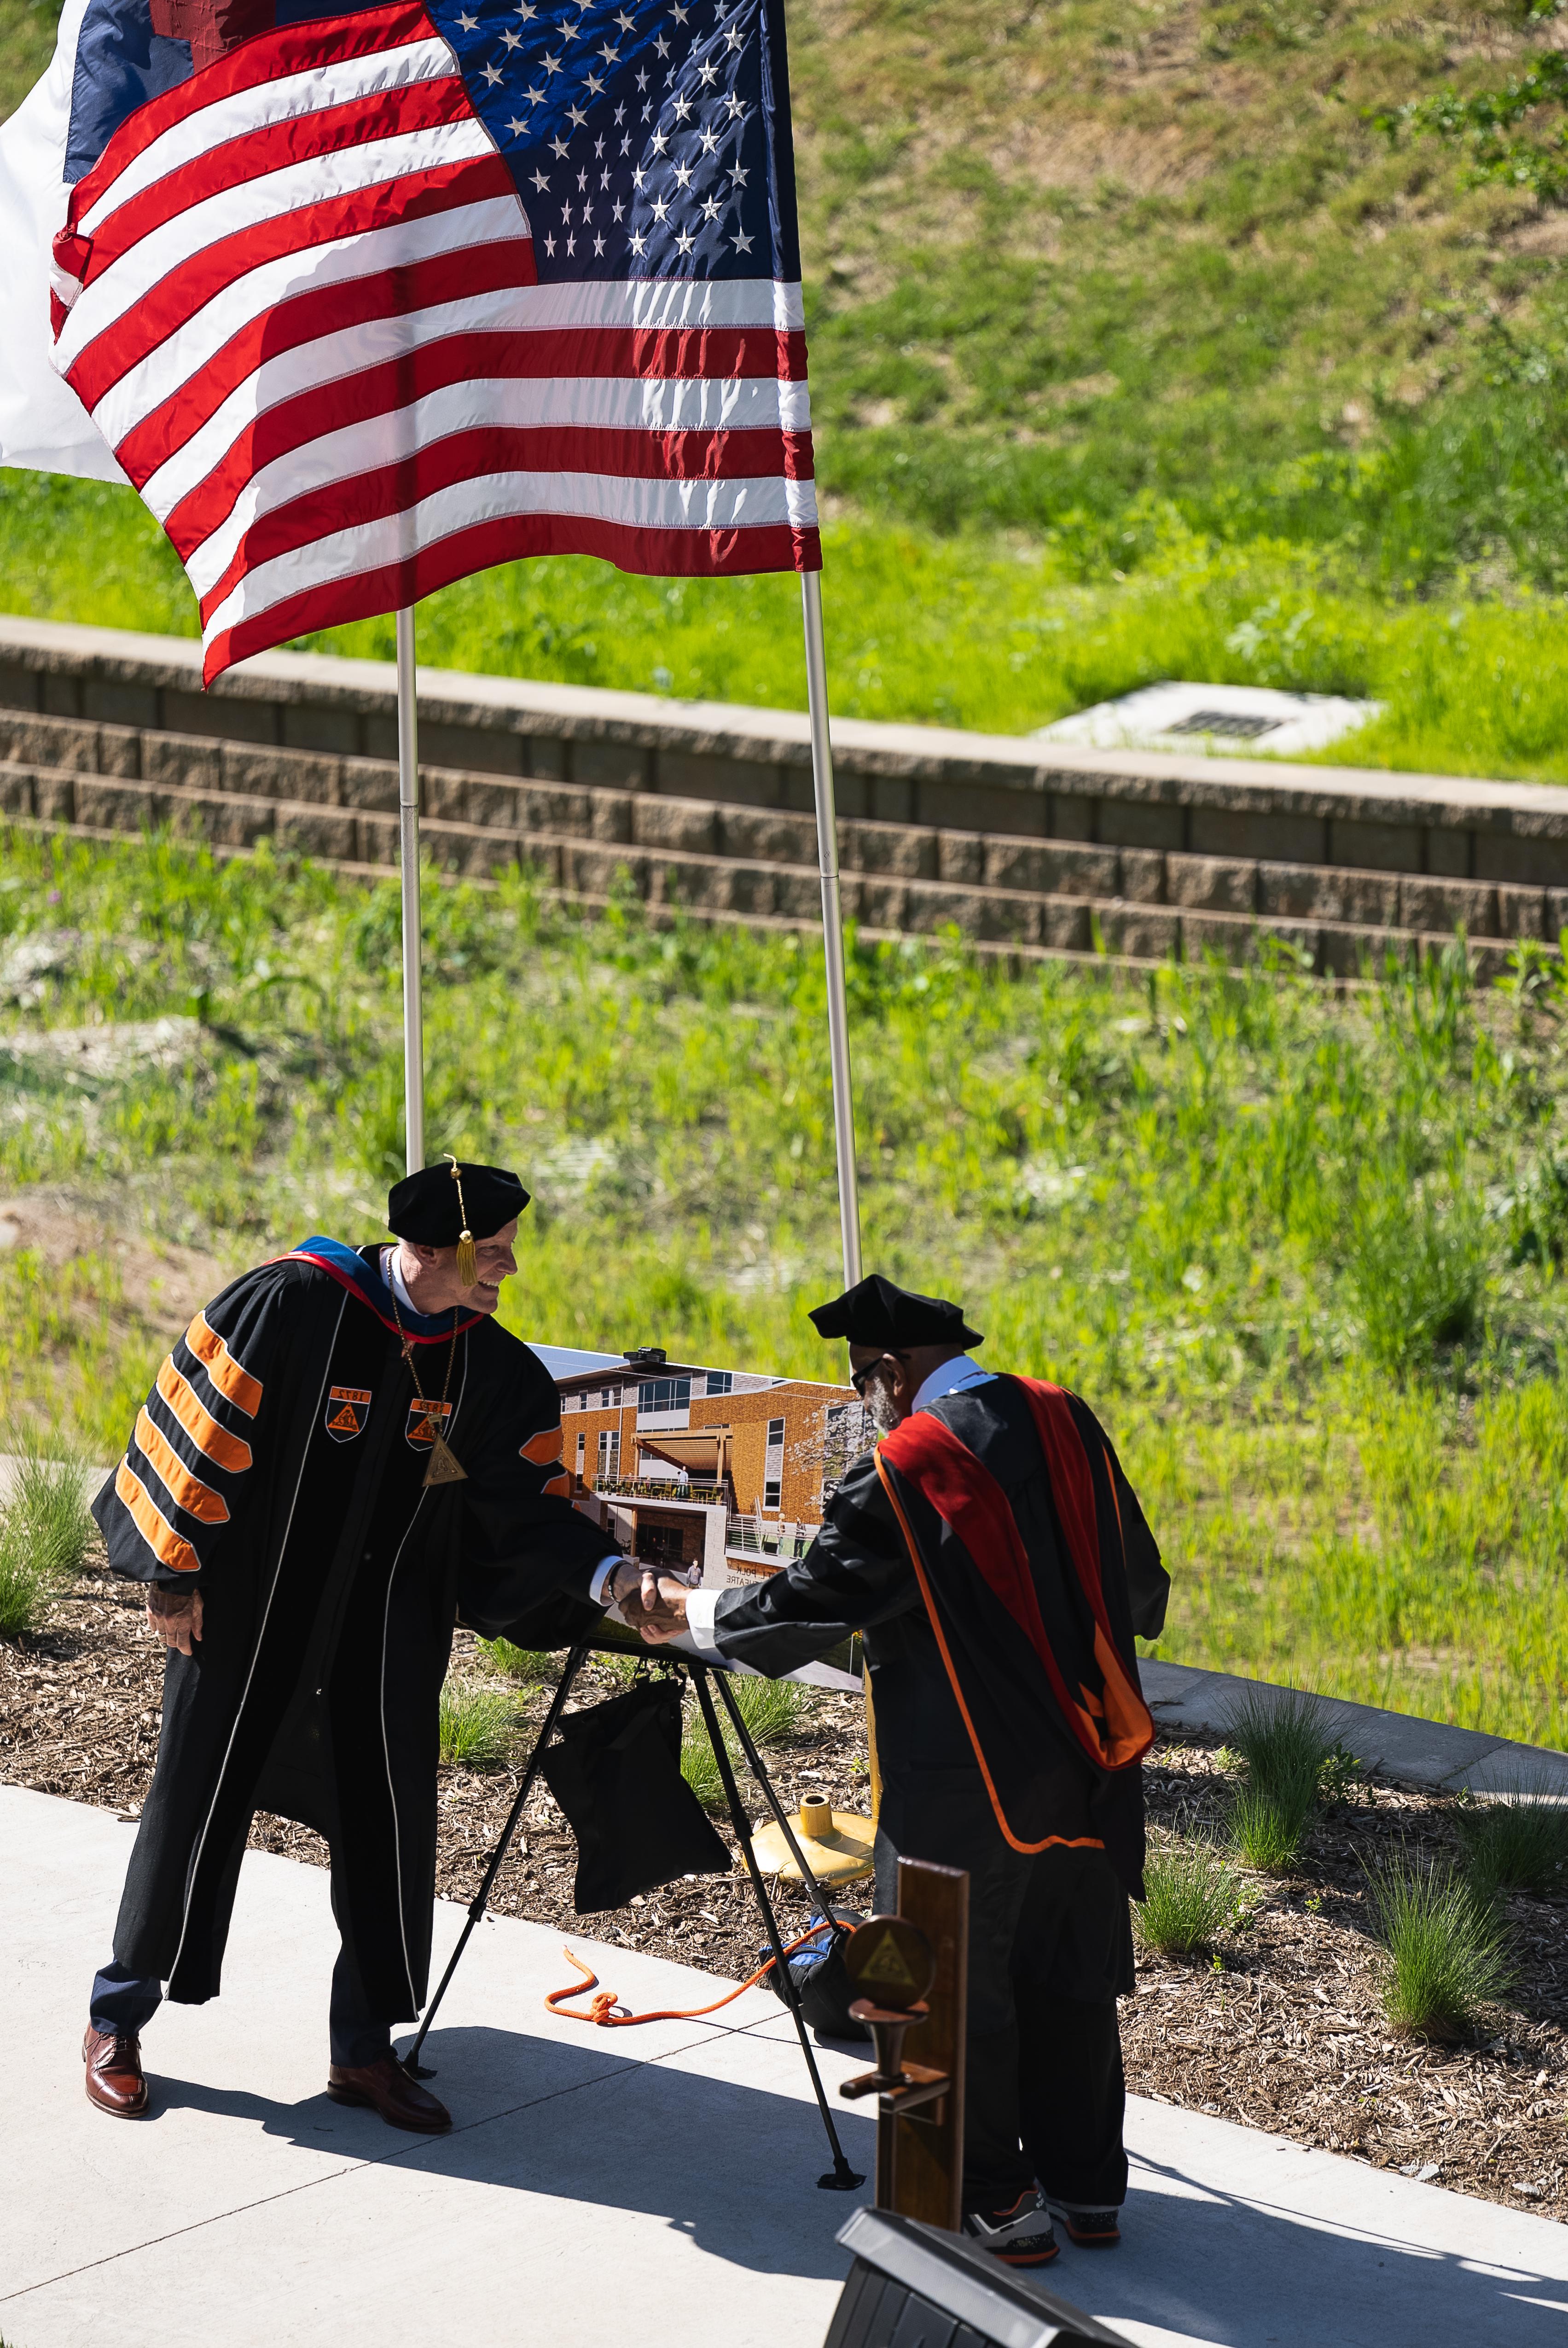
[{"label": "black academic robe of man with red hood, seen from behind", "polygon": [[[1077,1397],[1063,1402],[1070,1404],[1070,1439],[1082,1444],[1082,1472],[1091,1479],[1103,1615],[1120,1672],[1136,1695],[1134,1634],[1157,1637],[1169,1578],[1099,1421]],[[1063,1460],[1056,1460],[1061,1489],[1054,1489],[1023,1381],[991,1378],[941,1395],[927,1409],[1007,1507],[1040,1615],[1077,1686],[1089,1669],[1080,1669],[1073,1646],[1084,1604],[1063,1507],[1068,1522],[1075,1519]],[[911,1437],[922,1418],[925,1411],[906,1421]],[[887,1449],[897,1453],[899,1437]],[[883,1773],[883,1827],[899,1850],[918,1857],[927,1806],[937,1799],[951,1806],[969,1784],[974,1815],[995,1817],[1014,1850],[1101,1846],[1122,1885],[1141,1895],[1143,1784],[1136,1756],[1129,1766],[1103,1768],[1084,1752],[1049,1695],[1023,1630],[995,1592],[976,1583],[972,1561],[953,1550],[951,1526],[920,1493],[920,1449],[913,1442],[906,1470],[904,1477],[880,1472],[876,1451],[854,1460],[805,1557],[753,1590],[721,1592],[714,1611],[718,1653],[779,1674],[824,1655],[847,1630],[861,1630]],[[960,1568],[976,1587],[960,1583]],[[1091,1634],[1089,1622],[1089,1646]],[[1099,1698],[1099,1688],[1094,1693]]]}]

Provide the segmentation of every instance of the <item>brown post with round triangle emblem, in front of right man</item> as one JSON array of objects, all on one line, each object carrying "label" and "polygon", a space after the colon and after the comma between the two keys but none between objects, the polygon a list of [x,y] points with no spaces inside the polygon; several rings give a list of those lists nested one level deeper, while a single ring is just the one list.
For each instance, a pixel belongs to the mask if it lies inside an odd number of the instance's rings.
[{"label": "brown post with round triangle emblem, in front of right man", "polygon": [[958,2233],[969,1876],[899,1860],[899,1914],[871,1916],[850,1935],[845,1970],[861,1991],[850,2012],[871,2031],[876,2071],[838,2092],[876,2094],[876,2207]]}]

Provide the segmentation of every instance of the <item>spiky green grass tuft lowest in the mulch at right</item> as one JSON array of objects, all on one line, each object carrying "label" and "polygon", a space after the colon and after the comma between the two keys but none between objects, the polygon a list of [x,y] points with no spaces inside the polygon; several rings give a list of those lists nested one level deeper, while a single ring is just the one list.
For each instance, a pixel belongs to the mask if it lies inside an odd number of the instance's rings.
[{"label": "spiky green grass tuft lowest in the mulch at right", "polygon": [[1397,2031],[1451,2043],[1512,1979],[1495,1907],[1462,1876],[1397,1857],[1368,1869],[1383,1942],[1383,2012]]}]

